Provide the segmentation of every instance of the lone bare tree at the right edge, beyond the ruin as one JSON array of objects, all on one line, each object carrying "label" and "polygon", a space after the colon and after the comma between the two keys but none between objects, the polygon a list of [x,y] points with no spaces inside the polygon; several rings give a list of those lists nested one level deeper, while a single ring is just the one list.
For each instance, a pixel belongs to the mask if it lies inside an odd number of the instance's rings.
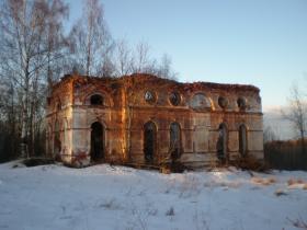
[{"label": "lone bare tree at the right edge, beyond the ruin", "polygon": [[282,115],[293,124],[294,129],[299,134],[302,152],[305,152],[304,138],[307,128],[307,103],[297,84],[293,84],[291,88],[288,108],[287,111],[283,110]]}]

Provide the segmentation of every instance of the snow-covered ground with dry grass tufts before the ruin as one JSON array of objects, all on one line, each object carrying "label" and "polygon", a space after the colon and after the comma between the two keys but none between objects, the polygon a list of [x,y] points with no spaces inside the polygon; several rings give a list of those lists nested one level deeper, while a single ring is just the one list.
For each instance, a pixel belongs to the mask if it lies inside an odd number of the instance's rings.
[{"label": "snow-covered ground with dry grass tufts before the ruin", "polygon": [[288,230],[307,221],[307,172],[14,164],[0,164],[0,229]]}]

